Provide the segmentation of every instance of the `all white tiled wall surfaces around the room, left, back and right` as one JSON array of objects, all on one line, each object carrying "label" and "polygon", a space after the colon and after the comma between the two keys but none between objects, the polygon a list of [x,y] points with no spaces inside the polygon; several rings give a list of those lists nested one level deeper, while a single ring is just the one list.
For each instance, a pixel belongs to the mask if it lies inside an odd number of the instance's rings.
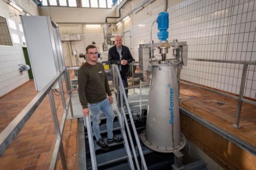
[{"label": "all white tiled wall surfaces around the room, left, back and right", "polygon": [[[156,35],[159,31],[155,20],[163,9],[163,2],[156,0],[118,25],[118,32],[123,32],[125,36],[124,44],[129,46],[136,61],[138,61],[138,43],[150,41],[151,27],[152,40],[159,42]],[[174,39],[187,41],[189,58],[256,61],[255,1],[168,1],[167,12],[170,14],[168,41]],[[18,30],[10,29],[10,33],[18,32],[19,39],[22,40],[17,22],[16,25]],[[85,53],[86,46],[95,41],[102,51],[103,28],[89,29],[83,25],[82,29],[81,41],[63,42],[65,66],[77,65],[72,49],[76,49],[77,55]],[[155,51],[155,56],[160,58],[160,54],[157,53]],[[170,56],[170,53],[167,54],[167,58]],[[84,59],[79,58],[79,61],[84,62]],[[14,46],[0,46],[0,96],[27,82],[27,73],[19,73],[19,63],[24,64],[22,42],[14,43]],[[188,66],[183,67],[181,71],[181,79],[239,94],[242,68],[243,66],[238,64],[189,60]],[[256,69],[255,65],[250,65],[246,75],[244,95],[256,99],[255,94]]]}]

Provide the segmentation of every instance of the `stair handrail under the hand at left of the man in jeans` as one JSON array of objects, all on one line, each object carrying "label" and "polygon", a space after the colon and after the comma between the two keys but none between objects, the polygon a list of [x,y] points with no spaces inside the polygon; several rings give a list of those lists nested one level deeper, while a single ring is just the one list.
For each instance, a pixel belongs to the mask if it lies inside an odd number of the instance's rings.
[{"label": "stair handrail under the hand at left of the man in jeans", "polygon": [[87,114],[85,117],[85,124],[86,124],[86,129],[88,133],[88,141],[89,141],[89,149],[90,149],[90,160],[92,162],[92,169],[97,170],[97,162],[96,162],[96,154],[94,150],[94,143],[93,143],[93,134],[92,134],[92,125],[90,124],[90,116]]}]

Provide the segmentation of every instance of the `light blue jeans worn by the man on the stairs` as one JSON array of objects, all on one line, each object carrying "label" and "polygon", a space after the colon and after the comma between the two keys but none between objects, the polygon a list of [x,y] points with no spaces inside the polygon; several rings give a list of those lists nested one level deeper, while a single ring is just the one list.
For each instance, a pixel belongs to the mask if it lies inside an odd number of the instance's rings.
[{"label": "light blue jeans worn by the man on the stairs", "polygon": [[98,141],[101,138],[101,134],[100,134],[101,111],[106,116],[108,138],[112,139],[113,138],[113,121],[114,121],[115,115],[109,103],[109,99],[107,98],[105,100],[102,100],[100,103],[94,103],[94,104],[88,103],[88,107],[90,109],[90,113],[92,114],[92,118],[93,118],[92,128],[93,128],[96,140]]}]

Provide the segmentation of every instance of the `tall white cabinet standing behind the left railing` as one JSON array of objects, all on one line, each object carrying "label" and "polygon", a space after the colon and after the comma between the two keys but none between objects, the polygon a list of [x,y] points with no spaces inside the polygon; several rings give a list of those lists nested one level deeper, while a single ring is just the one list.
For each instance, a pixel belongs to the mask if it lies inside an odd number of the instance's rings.
[{"label": "tall white cabinet standing behind the left railing", "polygon": [[65,67],[59,27],[49,16],[20,16],[36,91],[41,91]]}]

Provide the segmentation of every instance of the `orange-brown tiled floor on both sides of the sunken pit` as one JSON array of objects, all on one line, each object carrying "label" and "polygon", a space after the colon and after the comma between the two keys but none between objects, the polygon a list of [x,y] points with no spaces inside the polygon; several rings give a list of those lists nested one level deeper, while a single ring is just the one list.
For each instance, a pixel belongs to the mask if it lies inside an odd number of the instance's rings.
[{"label": "orange-brown tiled floor on both sides of the sunken pit", "polygon": [[[35,91],[34,81],[30,80],[0,98],[0,131],[22,111],[36,94],[38,92]],[[254,105],[243,103],[240,120],[242,128],[237,129],[232,126],[236,118],[237,100],[184,84],[181,84],[180,98],[181,107],[250,145],[256,145],[256,107]],[[222,104],[218,104],[218,101]],[[61,105],[60,96],[55,96],[55,103],[56,108]],[[78,155],[75,151],[77,120],[67,121],[64,131],[65,154],[70,160],[68,168],[74,169],[77,161],[75,157]],[[48,169],[54,137],[54,125],[48,97],[46,97],[0,158],[0,169]]]}]

